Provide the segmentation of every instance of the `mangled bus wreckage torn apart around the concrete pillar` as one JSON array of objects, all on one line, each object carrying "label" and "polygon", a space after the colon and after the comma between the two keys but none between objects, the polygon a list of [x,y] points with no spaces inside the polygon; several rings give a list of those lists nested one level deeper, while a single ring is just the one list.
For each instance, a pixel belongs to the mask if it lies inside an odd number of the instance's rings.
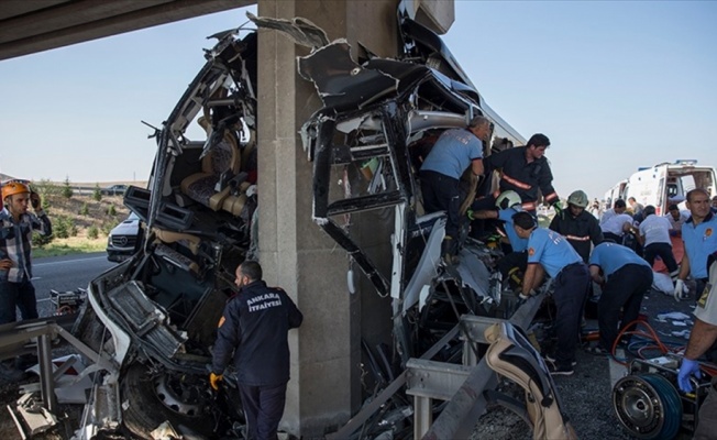
[{"label": "mangled bus wreckage torn apart around the concrete pillar", "polygon": [[[395,350],[364,344],[378,386],[327,438],[461,438],[488,400],[515,409],[536,438],[573,437],[548,369],[520,330],[543,295],[518,305],[493,275],[499,249],[467,237],[460,262],[443,264],[445,215],[424,215],[420,202],[417,170],[443,130],[483,114],[493,122],[485,154],[525,140],[486,106],[440,37],[405,13],[404,52],[382,58],[362,47],[357,62],[346,41],[330,42],[307,20],[250,19],[311,48],[298,72],[323,102],[301,130],[313,163],[313,218],[393,301]],[[148,188],[125,194],[144,223],[135,254],[89,285],[73,333],[102,362],[88,369],[93,385],[77,439],[152,439],[158,427],[178,438],[242,438],[231,372],[214,395],[207,370],[216,331],[208,322],[235,292],[233,270],[250,252],[256,208],[256,32],[239,32],[214,35],[206,65],[155,133]],[[190,125],[203,129],[199,141]],[[490,190],[489,179],[463,185],[466,200]],[[382,210],[393,224],[390,276],[352,238],[346,216],[365,210]],[[501,397],[494,371],[521,386],[526,402]],[[454,421],[431,424],[439,413]]]}]

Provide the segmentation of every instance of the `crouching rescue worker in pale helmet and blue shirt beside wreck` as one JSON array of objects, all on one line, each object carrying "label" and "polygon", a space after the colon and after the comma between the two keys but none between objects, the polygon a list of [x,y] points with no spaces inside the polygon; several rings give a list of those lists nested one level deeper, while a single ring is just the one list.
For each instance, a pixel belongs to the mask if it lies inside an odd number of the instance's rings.
[{"label": "crouching rescue worker in pale helmet and blue shirt beside wreck", "polygon": [[508,279],[512,288],[518,288],[522,282],[522,276],[528,264],[528,240],[521,239],[512,227],[512,216],[522,211],[520,196],[516,191],[508,190],[503,193],[496,199],[496,209],[476,211],[468,210],[471,220],[497,219],[504,222],[505,233],[507,235],[510,250],[504,252],[505,255],[498,260],[498,271],[501,279]]}]

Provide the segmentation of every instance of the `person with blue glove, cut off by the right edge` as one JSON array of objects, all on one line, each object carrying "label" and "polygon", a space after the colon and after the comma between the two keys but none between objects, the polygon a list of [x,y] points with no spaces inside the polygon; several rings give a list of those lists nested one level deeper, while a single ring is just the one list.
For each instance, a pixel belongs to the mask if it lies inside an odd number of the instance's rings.
[{"label": "person with blue glove, cut off by the right edge", "polygon": [[[705,289],[697,300],[694,311],[697,319],[690,333],[690,342],[687,342],[677,373],[677,386],[683,393],[694,391],[690,383],[690,376],[702,376],[698,359],[717,344],[717,253],[713,253],[708,261],[709,290]],[[714,439],[715,432],[717,432],[717,375],[712,378],[709,393],[699,406],[697,419],[693,439]]]}]

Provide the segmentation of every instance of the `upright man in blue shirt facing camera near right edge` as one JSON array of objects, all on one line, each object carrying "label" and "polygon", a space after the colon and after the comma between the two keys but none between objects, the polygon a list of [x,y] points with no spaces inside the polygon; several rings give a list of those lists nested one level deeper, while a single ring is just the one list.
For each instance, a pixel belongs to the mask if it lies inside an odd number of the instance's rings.
[{"label": "upright man in blue shirt facing camera near right edge", "polygon": [[686,206],[691,217],[682,226],[685,254],[680,264],[674,296],[681,299],[685,292],[684,280],[690,275],[697,284],[696,297],[707,284],[707,255],[717,251],[717,217],[709,209],[709,193],[695,188],[687,193]]}]

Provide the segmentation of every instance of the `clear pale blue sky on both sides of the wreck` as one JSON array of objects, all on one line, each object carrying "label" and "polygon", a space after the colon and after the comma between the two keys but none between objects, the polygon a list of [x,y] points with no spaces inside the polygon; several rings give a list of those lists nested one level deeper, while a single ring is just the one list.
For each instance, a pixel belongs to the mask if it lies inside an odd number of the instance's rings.
[{"label": "clear pale blue sky on both sides of the wreck", "polygon": [[[0,173],[146,180],[159,125],[203,64],[207,35],[245,10],[0,62]],[[717,165],[717,2],[455,1],[445,44],[526,139],[553,184],[602,199],[638,167]],[[712,152],[712,153],[709,153]]]}]

